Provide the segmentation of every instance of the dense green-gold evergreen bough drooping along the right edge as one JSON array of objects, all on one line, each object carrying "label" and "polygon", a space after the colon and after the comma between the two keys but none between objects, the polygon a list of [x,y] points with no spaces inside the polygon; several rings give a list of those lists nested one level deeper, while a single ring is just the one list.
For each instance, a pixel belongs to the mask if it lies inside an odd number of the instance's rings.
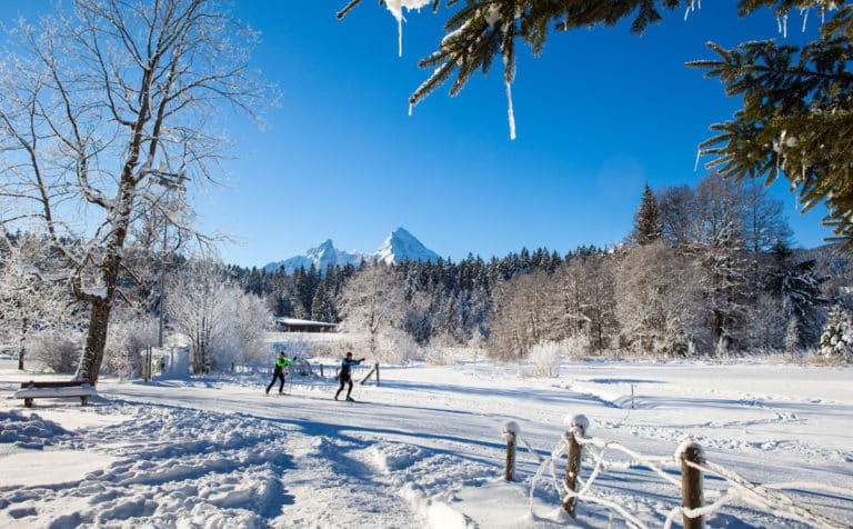
[{"label": "dense green-gold evergreen bough drooping along the right edge", "polygon": [[743,12],[762,3],[786,8],[819,4],[833,13],[821,38],[800,48],[753,41],[726,50],[710,43],[717,60],[692,62],[725,83],[726,94],[742,96],[732,120],[712,126],[717,136],[702,143],[708,164],[729,178],[780,176],[799,189],[803,210],[824,201],[824,222],[853,250],[853,4],[791,0],[742,2]]}]

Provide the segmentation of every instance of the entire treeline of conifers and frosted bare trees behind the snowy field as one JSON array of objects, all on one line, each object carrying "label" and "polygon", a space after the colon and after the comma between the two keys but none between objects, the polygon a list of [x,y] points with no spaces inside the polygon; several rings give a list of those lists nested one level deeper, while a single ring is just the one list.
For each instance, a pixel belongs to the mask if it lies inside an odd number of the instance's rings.
[{"label": "entire treeline of conifers and frosted bare trees behind the snowy field", "polygon": [[[834,244],[790,248],[780,211],[760,184],[711,174],[695,188],[646,186],[633,231],[612,248],[292,273],[145,248],[141,237],[119,281],[106,369],[121,351],[162,343],[164,328],[191,338],[197,371],[261,359],[271,316],[339,323],[367,337],[357,347],[395,361],[453,347],[515,360],[548,345],[573,357],[849,358],[849,254]],[[58,273],[43,281],[16,264],[57,272],[57,252],[30,233],[7,241],[3,342],[58,370],[73,368],[82,303]]]}]

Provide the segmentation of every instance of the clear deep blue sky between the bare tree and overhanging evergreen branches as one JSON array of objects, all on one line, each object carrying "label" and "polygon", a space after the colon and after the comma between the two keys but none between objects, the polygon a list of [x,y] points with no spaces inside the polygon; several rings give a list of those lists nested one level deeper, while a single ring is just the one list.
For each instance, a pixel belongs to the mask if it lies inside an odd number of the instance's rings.
[{"label": "clear deep blue sky between the bare tree and overhanging evergreen branches", "polygon": [[[645,182],[694,186],[706,173],[694,171],[696,147],[740,104],[684,62],[712,57],[709,40],[782,38],[769,11],[737,19],[734,0],[704,3],[686,21],[666,13],[642,37],[622,23],[552,33],[535,58],[520,48],[512,141],[498,66],[408,114],[429,74],[418,59],[443,36],[446,10],[407,13],[401,58],[397,21],[375,1],[342,21],[334,14],[345,0],[235,2],[237,17],[262,32],[254,63],[279,86],[281,104],[264,130],[232,121],[230,183],[198,201],[202,223],[241,241],[221,247],[241,266],[327,238],[371,251],[398,227],[453,260],[613,244],[631,231]],[[14,9],[0,13],[9,20]],[[814,37],[817,21],[811,13],[803,37],[792,16],[789,40]],[[820,244],[831,234],[820,227],[823,209],[799,213],[786,188],[772,192],[795,246]]]}]

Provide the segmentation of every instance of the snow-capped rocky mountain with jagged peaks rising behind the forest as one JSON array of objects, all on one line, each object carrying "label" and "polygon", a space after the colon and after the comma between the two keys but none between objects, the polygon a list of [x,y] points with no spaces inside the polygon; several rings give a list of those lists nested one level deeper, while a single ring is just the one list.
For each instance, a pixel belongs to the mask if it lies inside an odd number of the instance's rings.
[{"label": "snow-capped rocky mountain with jagged peaks rising behind the forest", "polygon": [[345,251],[334,248],[331,239],[327,239],[319,247],[311,248],[303,256],[291,257],[283,261],[270,262],[263,267],[268,272],[275,271],[281,267],[292,273],[293,270],[314,266],[317,270],[325,270],[327,267],[353,264],[358,267],[362,259],[364,261],[382,261],[387,264],[393,264],[402,261],[432,261],[439,260],[439,254],[430,250],[413,234],[403,228],[398,228],[391,232],[382,242],[379,250],[364,253],[360,251]]}]

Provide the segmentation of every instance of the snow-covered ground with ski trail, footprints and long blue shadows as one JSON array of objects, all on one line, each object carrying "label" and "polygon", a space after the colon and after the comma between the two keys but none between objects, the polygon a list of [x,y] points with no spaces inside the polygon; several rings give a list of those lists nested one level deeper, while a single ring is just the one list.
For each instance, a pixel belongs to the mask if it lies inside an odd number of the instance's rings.
[{"label": "snow-covered ground with ski trail, footprints and long blue shadows", "polygon": [[[665,527],[668,517],[680,527],[670,481],[685,440],[714,468],[779,485],[747,501],[749,483],[705,473],[706,505],[732,498],[710,509],[708,527],[853,527],[849,368],[575,362],[531,379],[484,361],[389,367],[381,387],[357,383],[350,403],[332,400],[333,362],[327,379],[294,380],[281,397],[263,395],[264,369],[106,379],[89,407],[41,399],[24,409],[13,381],[57,377],[0,360],[0,527],[603,528]],[[550,461],[574,413],[589,436],[633,455],[588,449],[582,478],[594,456],[603,465],[571,520]],[[516,482],[501,479],[508,420],[544,458],[541,479],[526,448]]]}]

